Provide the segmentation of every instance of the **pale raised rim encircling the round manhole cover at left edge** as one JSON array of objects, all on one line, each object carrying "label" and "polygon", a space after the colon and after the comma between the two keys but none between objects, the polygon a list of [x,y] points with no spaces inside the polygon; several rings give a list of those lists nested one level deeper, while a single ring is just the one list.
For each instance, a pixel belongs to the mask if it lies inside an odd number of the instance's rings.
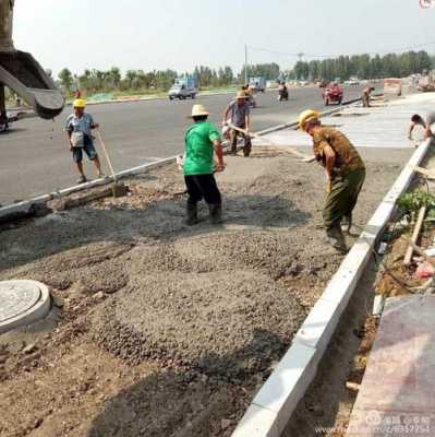
[{"label": "pale raised rim encircling the round manhole cover at left edge", "polygon": [[20,283],[27,282],[34,284],[40,290],[40,298],[32,308],[28,308],[25,312],[0,323],[0,334],[15,328],[35,323],[36,321],[43,319],[48,315],[51,308],[51,297],[47,285],[38,281],[31,281],[31,280],[5,281],[5,282],[20,282]]}]

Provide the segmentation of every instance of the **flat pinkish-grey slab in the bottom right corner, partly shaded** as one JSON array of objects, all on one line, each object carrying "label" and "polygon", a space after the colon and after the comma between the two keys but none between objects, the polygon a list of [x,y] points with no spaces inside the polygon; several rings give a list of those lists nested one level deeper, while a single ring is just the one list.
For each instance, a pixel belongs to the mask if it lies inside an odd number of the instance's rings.
[{"label": "flat pinkish-grey slab in the bottom right corner, partly shaded", "polygon": [[435,297],[387,299],[347,436],[435,435]]}]

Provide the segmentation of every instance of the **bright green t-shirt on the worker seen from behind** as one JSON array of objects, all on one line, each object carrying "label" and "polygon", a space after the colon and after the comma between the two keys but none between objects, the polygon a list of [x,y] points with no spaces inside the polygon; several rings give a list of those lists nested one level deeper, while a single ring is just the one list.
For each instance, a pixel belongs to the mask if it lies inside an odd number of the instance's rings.
[{"label": "bright green t-shirt on the worker seen from behind", "polygon": [[184,175],[209,175],[214,172],[213,141],[220,140],[220,133],[209,121],[192,125],[185,133]]}]

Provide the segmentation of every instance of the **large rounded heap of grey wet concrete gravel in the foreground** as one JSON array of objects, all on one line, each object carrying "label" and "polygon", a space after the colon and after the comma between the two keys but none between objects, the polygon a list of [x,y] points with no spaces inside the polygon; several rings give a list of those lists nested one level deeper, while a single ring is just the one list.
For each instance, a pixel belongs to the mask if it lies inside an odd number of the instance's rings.
[{"label": "large rounded heap of grey wet concrete gravel in the foreground", "polygon": [[95,338],[117,355],[227,378],[265,370],[304,317],[285,287],[243,270],[143,276],[102,314]]}]

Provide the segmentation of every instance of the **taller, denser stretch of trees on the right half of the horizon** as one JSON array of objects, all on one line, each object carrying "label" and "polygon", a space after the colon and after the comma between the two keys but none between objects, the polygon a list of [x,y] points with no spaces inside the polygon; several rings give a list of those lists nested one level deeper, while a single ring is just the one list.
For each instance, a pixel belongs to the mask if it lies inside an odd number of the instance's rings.
[{"label": "taller, denser stretch of trees on the right half of the horizon", "polygon": [[388,54],[385,56],[340,56],[334,59],[299,61],[290,75],[294,79],[334,80],[350,76],[361,79],[406,78],[413,73],[434,68],[434,57],[426,51],[408,51],[404,54]]}]

